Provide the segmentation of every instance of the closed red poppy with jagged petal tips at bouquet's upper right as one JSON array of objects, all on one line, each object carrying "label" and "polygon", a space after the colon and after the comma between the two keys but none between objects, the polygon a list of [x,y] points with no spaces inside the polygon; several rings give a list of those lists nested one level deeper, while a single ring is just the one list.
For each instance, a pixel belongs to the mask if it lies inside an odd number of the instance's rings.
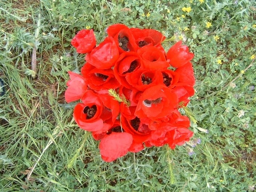
[{"label": "closed red poppy with jagged petal tips at bouquet's upper right", "polygon": [[177,42],[166,54],[166,58],[169,60],[170,65],[176,68],[182,67],[194,57],[193,53],[188,52],[188,46],[182,46],[181,44],[182,41]]}]

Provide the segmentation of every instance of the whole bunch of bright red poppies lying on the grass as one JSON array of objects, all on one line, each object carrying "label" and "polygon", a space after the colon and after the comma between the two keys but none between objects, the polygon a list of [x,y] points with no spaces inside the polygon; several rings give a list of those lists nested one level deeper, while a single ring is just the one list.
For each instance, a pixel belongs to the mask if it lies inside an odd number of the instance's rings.
[{"label": "whole bunch of bright red poppies lying on the grass", "polygon": [[194,94],[194,54],[177,42],[166,53],[165,37],[153,29],[114,24],[96,46],[93,30],[81,30],[71,44],[86,54],[81,75],[68,72],[65,98],[81,100],[74,120],[100,140],[106,162],[144,147],[170,148],[188,141],[190,120],[178,108]]}]

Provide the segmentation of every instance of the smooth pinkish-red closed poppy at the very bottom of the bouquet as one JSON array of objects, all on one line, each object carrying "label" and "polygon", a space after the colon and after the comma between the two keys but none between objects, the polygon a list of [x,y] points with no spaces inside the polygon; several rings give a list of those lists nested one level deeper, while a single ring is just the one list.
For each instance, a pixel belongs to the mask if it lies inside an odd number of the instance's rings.
[{"label": "smooth pinkish-red closed poppy at the very bottom of the bouquet", "polygon": [[100,141],[100,154],[104,161],[112,162],[127,154],[132,144],[132,135],[126,132],[106,134]]}]

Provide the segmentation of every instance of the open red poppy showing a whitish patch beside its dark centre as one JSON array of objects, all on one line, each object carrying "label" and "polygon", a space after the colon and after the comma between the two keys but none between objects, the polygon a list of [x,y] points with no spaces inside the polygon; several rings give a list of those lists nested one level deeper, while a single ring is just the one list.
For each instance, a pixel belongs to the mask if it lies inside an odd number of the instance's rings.
[{"label": "open red poppy showing a whitish patch beside its dark centre", "polygon": [[170,114],[178,104],[178,96],[164,85],[152,86],[140,96],[135,115],[152,120]]}]

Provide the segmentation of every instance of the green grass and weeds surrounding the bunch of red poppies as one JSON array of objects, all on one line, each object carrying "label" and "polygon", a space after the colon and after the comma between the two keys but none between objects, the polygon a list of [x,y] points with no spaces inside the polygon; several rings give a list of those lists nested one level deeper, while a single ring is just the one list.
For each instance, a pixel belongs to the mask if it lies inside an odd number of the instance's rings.
[{"label": "green grass and weeds surrounding the bunch of red poppies", "polygon": [[[256,3],[191,2],[2,0],[0,78],[6,94],[0,97],[0,190],[253,191]],[[206,28],[207,22],[212,26]],[[191,119],[192,139],[201,144],[146,148],[106,163],[98,142],[78,128],[64,91],[67,71],[79,71],[84,55],[70,41],[90,26],[99,43],[114,23],[159,30],[167,37],[166,49],[180,38],[194,52],[196,94],[183,112]]]}]

